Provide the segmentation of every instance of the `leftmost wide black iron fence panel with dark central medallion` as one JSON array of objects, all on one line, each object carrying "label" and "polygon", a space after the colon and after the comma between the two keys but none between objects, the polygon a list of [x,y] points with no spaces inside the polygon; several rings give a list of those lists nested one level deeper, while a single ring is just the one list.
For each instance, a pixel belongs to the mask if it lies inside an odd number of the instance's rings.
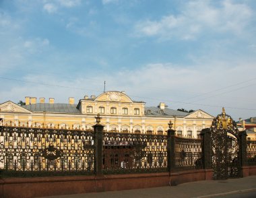
[{"label": "leftmost wide black iron fence panel with dark central medallion", "polygon": [[0,169],[7,176],[92,174],[94,133],[1,126]]}]

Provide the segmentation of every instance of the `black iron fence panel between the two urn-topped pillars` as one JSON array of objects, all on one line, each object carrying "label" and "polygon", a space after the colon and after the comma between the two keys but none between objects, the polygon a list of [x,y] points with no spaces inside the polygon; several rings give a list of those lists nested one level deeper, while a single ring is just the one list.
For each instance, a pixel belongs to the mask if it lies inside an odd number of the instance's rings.
[{"label": "black iron fence panel between the two urn-topped pillars", "polygon": [[104,133],[103,172],[167,171],[167,136]]}]

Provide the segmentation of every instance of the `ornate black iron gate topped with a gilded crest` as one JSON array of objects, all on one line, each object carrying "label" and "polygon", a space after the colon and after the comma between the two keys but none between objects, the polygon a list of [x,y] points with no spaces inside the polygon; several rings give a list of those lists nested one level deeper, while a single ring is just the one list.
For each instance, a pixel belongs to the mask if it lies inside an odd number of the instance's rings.
[{"label": "ornate black iron gate topped with a gilded crest", "polygon": [[210,134],[214,179],[241,177],[239,131],[224,108],[212,122]]}]

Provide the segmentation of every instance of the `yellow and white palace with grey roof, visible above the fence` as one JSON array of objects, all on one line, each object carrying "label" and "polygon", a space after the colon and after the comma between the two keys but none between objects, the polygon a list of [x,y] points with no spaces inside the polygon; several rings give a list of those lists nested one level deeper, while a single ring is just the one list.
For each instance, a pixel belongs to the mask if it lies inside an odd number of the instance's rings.
[{"label": "yellow and white palace with grey roof, visible above the fence", "polygon": [[125,92],[104,92],[99,96],[84,96],[75,104],[69,98],[67,104],[56,103],[54,98],[26,97],[26,105],[7,101],[0,104],[2,125],[43,127],[59,129],[92,130],[96,114],[102,117],[105,131],[121,133],[146,133],[166,135],[168,122],[174,123],[177,135],[199,137],[201,129],[210,127],[214,117],[203,110],[181,112],[158,106],[146,106],[146,102],[131,100]]}]

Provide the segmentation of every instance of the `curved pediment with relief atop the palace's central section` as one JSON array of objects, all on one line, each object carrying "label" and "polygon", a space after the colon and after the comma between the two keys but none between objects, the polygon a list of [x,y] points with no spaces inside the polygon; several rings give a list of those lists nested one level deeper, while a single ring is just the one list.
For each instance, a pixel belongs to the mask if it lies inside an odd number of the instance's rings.
[{"label": "curved pediment with relief atop the palace's central section", "polygon": [[129,96],[122,92],[105,92],[100,94],[95,101],[104,101],[104,102],[129,102],[132,103],[133,101]]}]

